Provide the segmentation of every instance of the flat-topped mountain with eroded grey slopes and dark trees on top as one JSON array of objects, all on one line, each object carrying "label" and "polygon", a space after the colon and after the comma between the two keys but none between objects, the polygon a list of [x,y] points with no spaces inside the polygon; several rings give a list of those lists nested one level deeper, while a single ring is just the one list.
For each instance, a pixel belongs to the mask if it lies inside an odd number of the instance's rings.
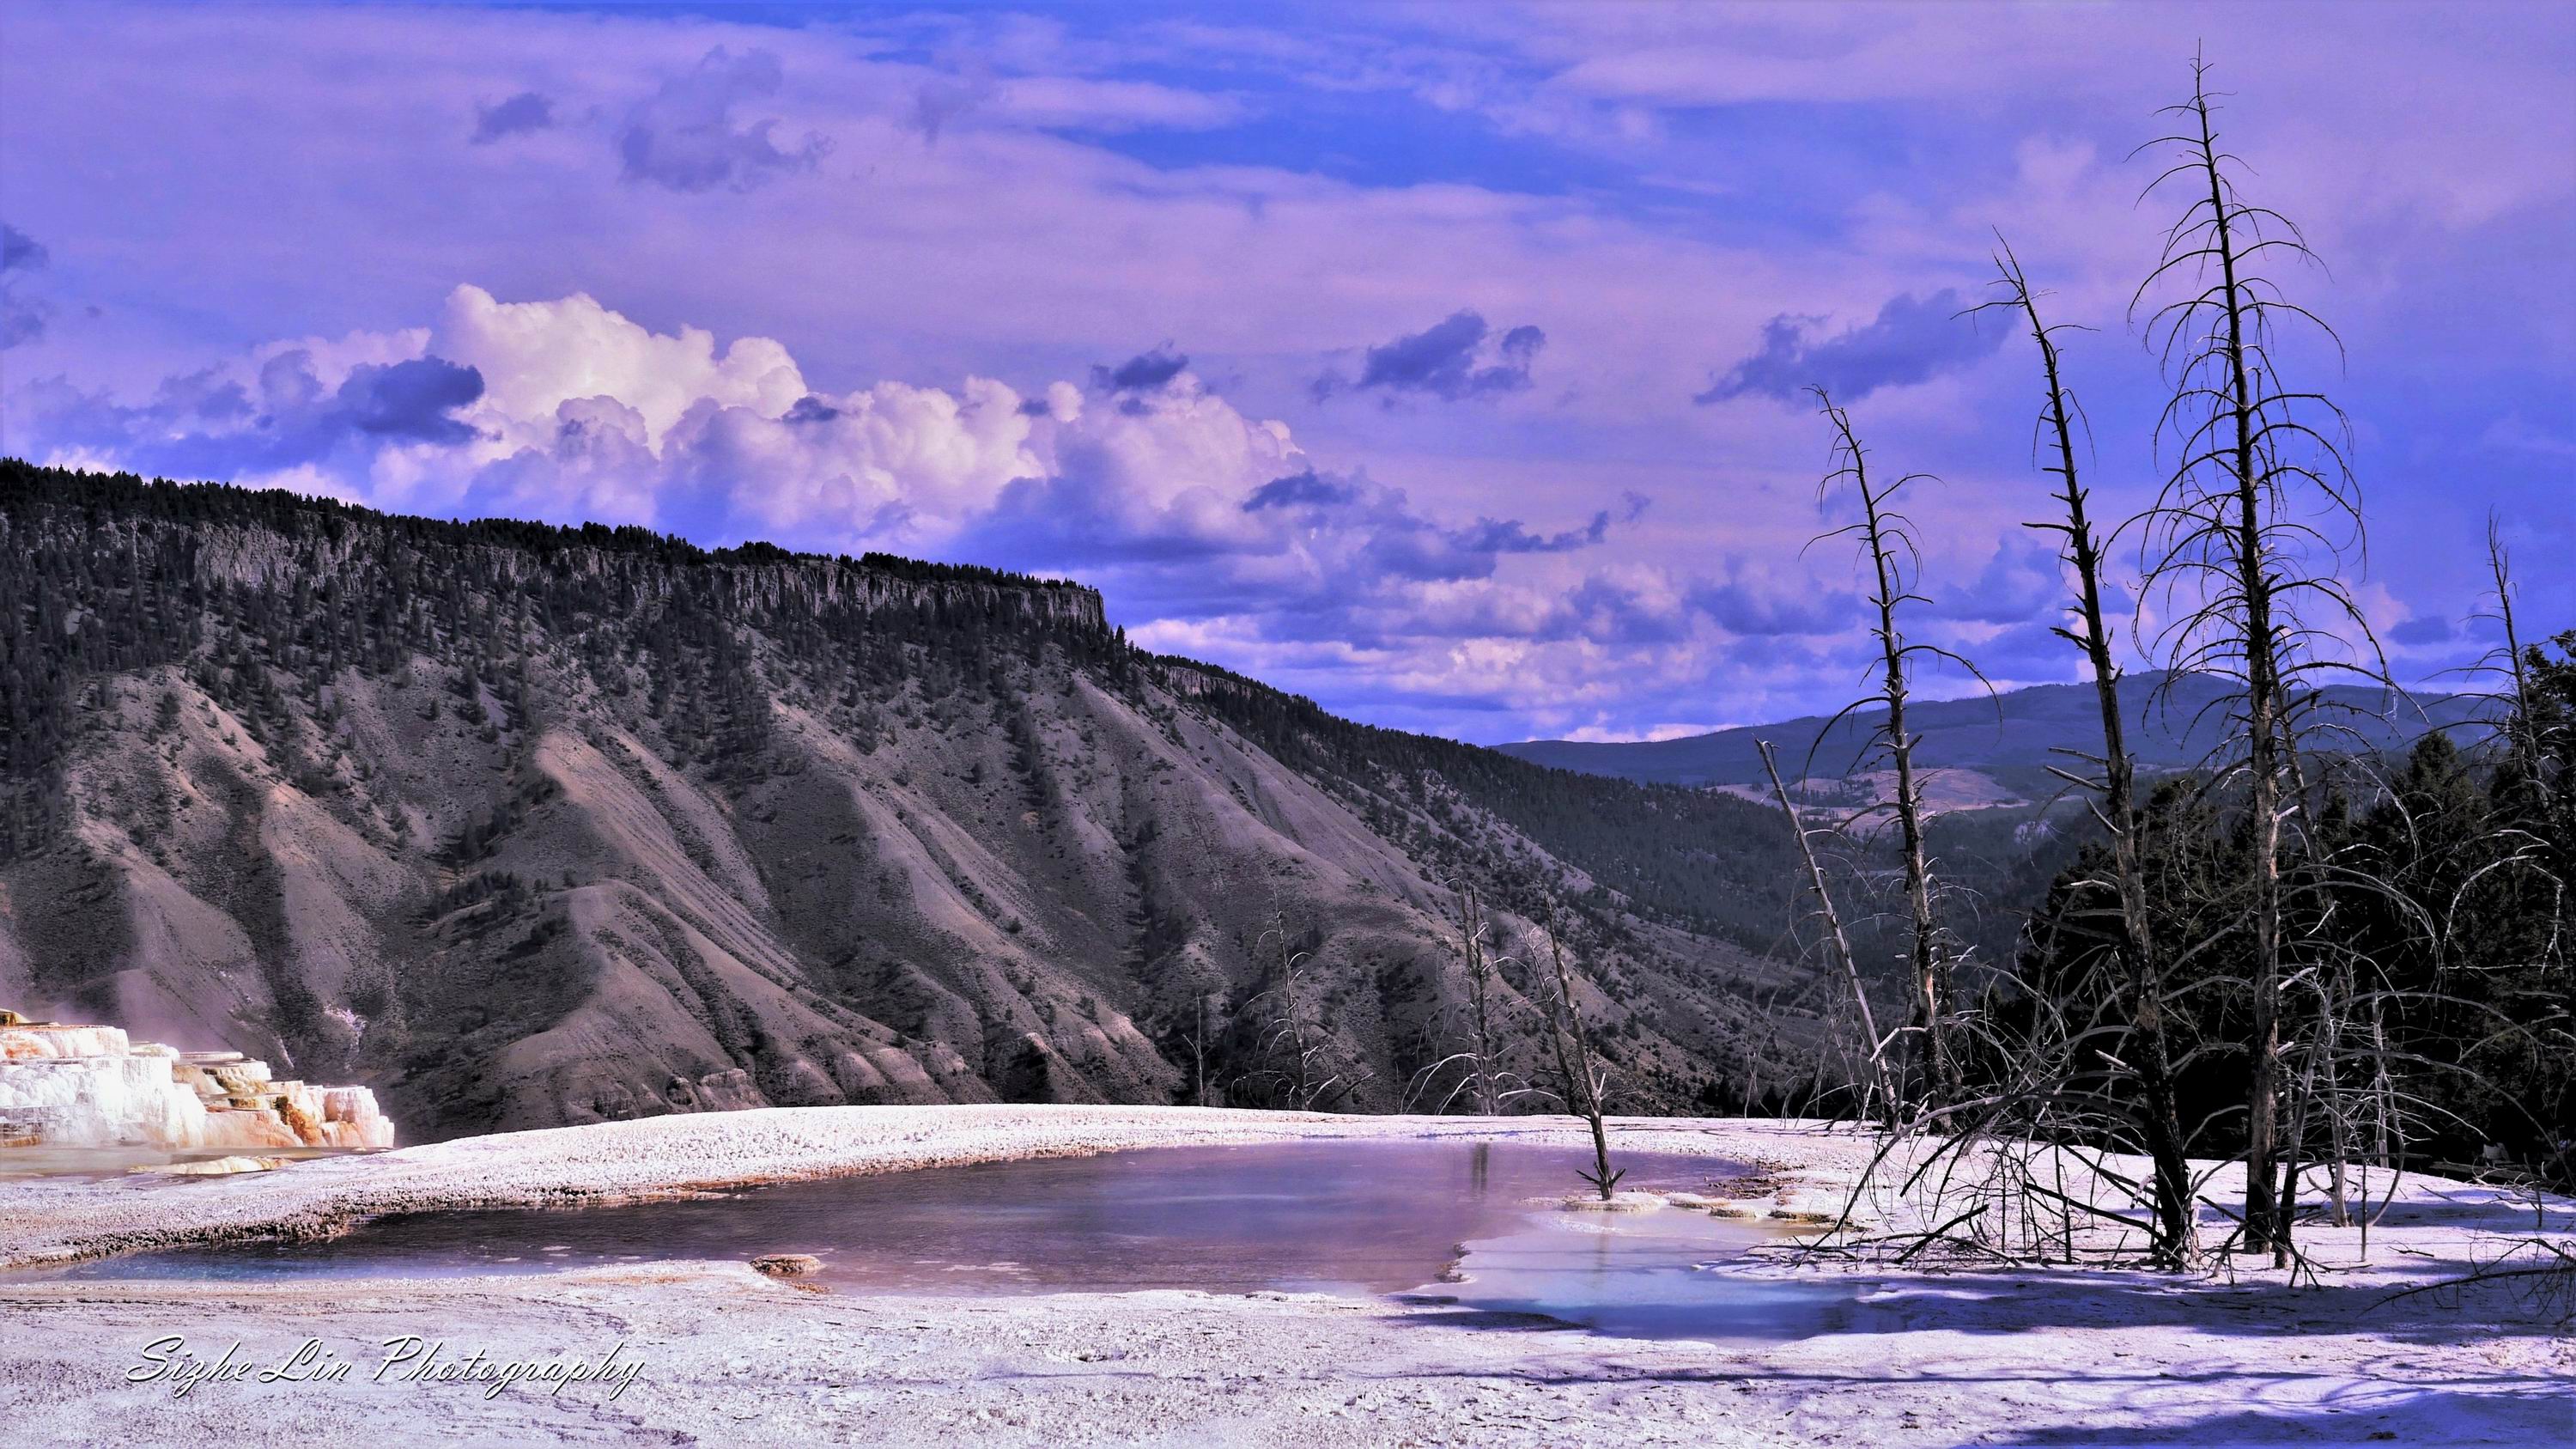
[{"label": "flat-topped mountain with eroded grey slopes and dark trees on top", "polygon": [[1461,879],[1504,933],[1574,902],[1623,1106],[1788,1049],[1744,1006],[1783,967],[1551,825],[1625,797],[1388,761],[1082,588],[5,469],[0,995],[371,1083],[404,1134],[1437,1104]]}]

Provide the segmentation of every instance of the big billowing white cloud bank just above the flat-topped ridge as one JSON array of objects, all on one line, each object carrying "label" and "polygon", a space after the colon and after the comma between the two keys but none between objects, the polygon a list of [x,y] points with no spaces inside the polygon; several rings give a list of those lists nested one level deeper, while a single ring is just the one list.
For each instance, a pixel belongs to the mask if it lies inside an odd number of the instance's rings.
[{"label": "big billowing white cloud bank just above the flat-topped ridge", "polygon": [[[1278,446],[1213,400],[1195,407]],[[276,343],[170,376],[144,402],[26,387],[5,443],[41,462],[322,487],[386,508],[809,549],[935,547],[992,513],[1012,480],[1056,474],[1059,449],[1133,454],[1139,477],[1221,462],[1172,423],[1113,410],[1097,423],[1084,425],[1069,384],[1038,400],[974,376],[832,392],[768,338],[719,345],[582,294],[500,302],[459,286],[430,327]]]}]

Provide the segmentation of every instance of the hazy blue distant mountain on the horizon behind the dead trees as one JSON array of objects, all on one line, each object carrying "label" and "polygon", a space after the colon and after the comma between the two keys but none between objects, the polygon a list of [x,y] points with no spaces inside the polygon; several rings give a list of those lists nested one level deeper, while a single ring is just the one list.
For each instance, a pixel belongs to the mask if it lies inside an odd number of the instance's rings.
[{"label": "hazy blue distant mountain on the horizon behind the dead trees", "polygon": [[[2161,688],[2172,683],[2172,688]],[[2123,706],[2130,714],[2128,745],[2146,771],[2182,771],[2205,761],[2221,740],[2228,686],[2208,676],[2166,681],[2138,673],[2123,681]],[[2481,701],[2455,694],[2388,696],[2378,688],[2334,686],[2316,714],[2331,730],[2334,748],[2388,750],[2416,735],[2478,719]],[[1844,779],[1860,773],[1868,735],[1886,719],[1883,709],[1829,717],[1785,719],[1690,735],[1600,745],[1582,740],[1530,740],[1499,745],[1502,753],[1566,771],[1615,776],[1641,784],[1677,786],[1762,786],[1757,740],[1770,740],[1780,773],[1798,779]],[[2066,750],[2102,753],[2102,706],[2092,683],[2040,683],[1999,696],[1919,701],[1906,709],[1906,724],[1922,735],[1917,761],[1937,771],[1960,771],[1953,781],[1958,804],[1994,804],[1996,797],[2035,799],[2056,786],[2048,766],[2079,766]],[[1976,789],[1984,781],[1989,789]]]}]

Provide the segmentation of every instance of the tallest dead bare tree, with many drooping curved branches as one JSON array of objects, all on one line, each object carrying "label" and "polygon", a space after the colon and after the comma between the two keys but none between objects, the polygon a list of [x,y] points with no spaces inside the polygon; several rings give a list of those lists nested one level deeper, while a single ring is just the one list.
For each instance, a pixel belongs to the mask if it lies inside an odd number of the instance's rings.
[{"label": "tallest dead bare tree, with many drooping curved branches", "polygon": [[[2339,668],[2316,650],[2321,621],[2306,611],[2324,608],[2362,639],[2370,634],[2334,572],[2344,547],[2316,523],[2316,513],[2342,516],[2360,547],[2342,413],[2321,392],[2287,387],[2275,358],[2277,320],[2334,338],[2267,276],[2275,255],[2313,263],[2313,253],[2287,217],[2239,196],[2244,162],[2221,150],[2213,111],[2208,64],[2195,59],[2192,98],[2161,111],[2179,126],[2141,147],[2174,157],[2146,196],[2169,186],[2187,196],[2130,302],[2133,317],[2146,309],[2148,345],[2172,384],[2156,441],[2174,464],[2143,516],[2143,575],[2151,593],[2177,606],[2159,632],[2166,681],[2213,673],[2241,691],[2231,712],[2233,758],[2221,776],[2241,781],[2254,835],[2244,1243],[2287,1266],[2290,1209],[2277,1181],[2282,987],[2293,946],[2285,902],[2300,841],[2293,815],[2306,807],[2293,681]],[[2151,291],[2177,281],[2182,297],[2148,304]]]}]

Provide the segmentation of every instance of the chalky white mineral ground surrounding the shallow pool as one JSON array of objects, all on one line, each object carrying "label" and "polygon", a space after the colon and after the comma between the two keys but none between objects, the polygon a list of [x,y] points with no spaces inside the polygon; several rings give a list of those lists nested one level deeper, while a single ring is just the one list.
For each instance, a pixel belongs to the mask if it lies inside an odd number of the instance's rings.
[{"label": "chalky white mineral ground surrounding the shallow pool", "polygon": [[[1154,1145],[1417,1137],[1582,1145],[1569,1119],[933,1106],[662,1116],[296,1163],[216,1181],[13,1181],[0,1266],[332,1232],[363,1214],[582,1204],[693,1189]],[[1765,1212],[1839,1207],[1870,1142],[1819,1124],[1625,1119],[1615,1147],[1762,1168]],[[1721,1189],[1723,1191],[1723,1189]],[[2372,1183],[2372,1196],[2388,1191]],[[2228,1199],[2218,1173],[2210,1196]],[[1909,1209],[1873,1207],[1875,1227]],[[2535,1212],[2537,1225],[2535,1225]],[[1862,1294],[1865,1328],[1636,1341],[1435,1302],[1316,1294],[894,1297],[809,1292],[742,1263],[531,1276],[54,1281],[0,1274],[0,1423],[15,1444],[2568,1444],[2576,1354],[2512,1284],[2470,1271],[2563,1199],[2406,1176],[2370,1235],[2308,1230],[2321,1287],[2282,1274],[1798,1269]],[[183,1333],[273,1364],[319,1338],[353,1382],[129,1385]],[[376,1343],[644,1364],[616,1400],[371,1385]]]}]

